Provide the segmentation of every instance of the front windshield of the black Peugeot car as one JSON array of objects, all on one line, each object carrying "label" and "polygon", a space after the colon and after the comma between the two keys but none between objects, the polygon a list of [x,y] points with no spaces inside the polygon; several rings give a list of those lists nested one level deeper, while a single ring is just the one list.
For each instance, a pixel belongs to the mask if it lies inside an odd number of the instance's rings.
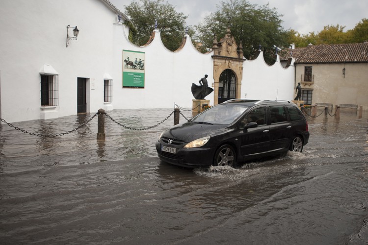
[{"label": "front windshield of the black Peugeot car", "polygon": [[247,106],[220,104],[205,110],[198,116],[194,117],[191,122],[205,124],[230,124],[239,118],[239,116],[247,109]]}]

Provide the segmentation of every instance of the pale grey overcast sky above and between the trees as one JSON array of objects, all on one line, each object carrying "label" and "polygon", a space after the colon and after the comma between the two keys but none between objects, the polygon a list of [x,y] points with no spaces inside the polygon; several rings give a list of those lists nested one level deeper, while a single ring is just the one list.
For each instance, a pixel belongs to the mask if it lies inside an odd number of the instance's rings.
[{"label": "pale grey overcast sky above and between the trees", "polygon": [[[110,0],[123,13],[124,5],[132,0]],[[172,4],[177,12],[188,16],[187,25],[197,25],[205,16],[216,12],[221,0],[164,0]],[[368,19],[368,0],[248,0],[252,4],[269,3],[276,8],[283,20],[283,27],[300,34],[318,33],[326,25],[345,26],[353,29],[363,18]]]}]

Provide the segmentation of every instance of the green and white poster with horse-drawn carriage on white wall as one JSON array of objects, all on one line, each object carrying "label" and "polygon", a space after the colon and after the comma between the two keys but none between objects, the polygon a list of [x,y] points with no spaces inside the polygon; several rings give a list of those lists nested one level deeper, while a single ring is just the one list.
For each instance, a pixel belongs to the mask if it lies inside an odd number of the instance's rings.
[{"label": "green and white poster with horse-drawn carriage on white wall", "polygon": [[123,88],[144,88],[145,53],[123,49]]}]

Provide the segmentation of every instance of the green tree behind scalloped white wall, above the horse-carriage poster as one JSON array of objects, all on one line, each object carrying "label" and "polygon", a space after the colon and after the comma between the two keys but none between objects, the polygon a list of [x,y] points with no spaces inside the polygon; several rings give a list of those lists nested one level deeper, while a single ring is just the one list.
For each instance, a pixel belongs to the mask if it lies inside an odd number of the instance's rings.
[{"label": "green tree behind scalloped white wall, above the horse-carriage poster", "polygon": [[137,45],[145,45],[157,23],[161,40],[171,51],[178,49],[185,34],[187,16],[176,12],[173,5],[163,3],[163,0],[139,0],[125,6],[125,14],[134,25],[134,33],[130,41]]}]

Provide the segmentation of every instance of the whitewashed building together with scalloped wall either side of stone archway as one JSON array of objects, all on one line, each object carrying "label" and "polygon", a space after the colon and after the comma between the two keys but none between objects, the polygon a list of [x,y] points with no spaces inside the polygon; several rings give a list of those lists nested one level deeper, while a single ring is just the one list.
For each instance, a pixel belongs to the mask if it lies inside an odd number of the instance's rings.
[{"label": "whitewashed building together with scalloped wall either side of stone archway", "polygon": [[[191,84],[204,74],[215,89],[206,97],[213,105],[225,66],[236,74],[237,97],[294,97],[294,67],[284,68],[279,58],[268,66],[261,52],[253,61],[237,59],[238,67],[228,59],[218,66],[214,52],[200,53],[188,35],[182,49],[169,51],[158,30],[150,44],[136,47],[126,19],[108,0],[1,0],[0,118],[11,123],[100,108],[191,107]],[[128,56],[143,59],[143,70],[125,67]]]}]

